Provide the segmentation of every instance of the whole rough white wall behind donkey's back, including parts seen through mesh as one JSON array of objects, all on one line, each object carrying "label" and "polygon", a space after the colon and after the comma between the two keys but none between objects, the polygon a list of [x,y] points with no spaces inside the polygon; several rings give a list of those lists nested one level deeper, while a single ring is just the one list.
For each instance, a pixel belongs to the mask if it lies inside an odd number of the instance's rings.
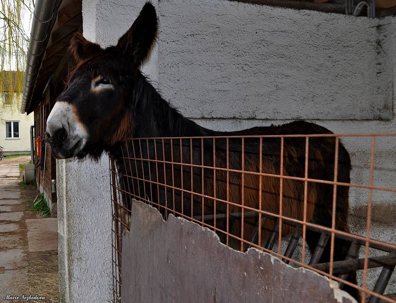
[{"label": "whole rough white wall behind donkey's back, including parts seen through mesh", "polygon": [[[396,17],[227,0],[161,0],[159,14],[160,89],[199,124],[236,130],[305,119],[335,133],[395,132]],[[367,184],[371,141],[342,141],[352,182]],[[377,140],[376,185],[396,187],[395,145]],[[360,235],[367,200],[367,190],[350,190],[349,226]],[[373,191],[372,218],[371,236],[396,243],[394,193]],[[395,291],[396,274],[387,292]]]}]

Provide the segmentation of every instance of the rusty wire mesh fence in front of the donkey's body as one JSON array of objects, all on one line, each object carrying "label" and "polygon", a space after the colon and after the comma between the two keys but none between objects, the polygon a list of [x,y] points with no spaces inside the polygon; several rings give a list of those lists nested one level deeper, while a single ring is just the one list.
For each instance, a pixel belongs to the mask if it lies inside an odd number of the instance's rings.
[{"label": "rusty wire mesh fence in front of the donkey's body", "polygon": [[[373,205],[386,201],[396,208],[395,138],[396,133],[128,139],[109,163],[114,302],[121,292],[122,236],[129,229],[131,200],[137,199],[165,220],[172,214],[213,230],[231,247],[254,247],[329,277],[360,294],[361,302],[395,303],[384,292],[396,265],[396,231],[390,228],[385,238],[372,235]],[[342,143],[358,146],[351,170],[356,182],[349,180]],[[364,213],[348,217],[354,205]],[[357,216],[362,226],[349,232]]]}]

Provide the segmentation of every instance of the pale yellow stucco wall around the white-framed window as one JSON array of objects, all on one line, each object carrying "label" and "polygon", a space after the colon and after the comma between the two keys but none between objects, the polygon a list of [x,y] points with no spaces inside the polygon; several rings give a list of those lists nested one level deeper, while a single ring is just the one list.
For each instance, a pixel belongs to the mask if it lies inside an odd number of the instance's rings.
[{"label": "pale yellow stucco wall around the white-framed window", "polygon": [[[5,121],[19,121],[19,138],[5,138]],[[0,109],[0,145],[4,152],[30,151],[30,126],[34,124],[33,114],[22,115],[8,107]]]}]

